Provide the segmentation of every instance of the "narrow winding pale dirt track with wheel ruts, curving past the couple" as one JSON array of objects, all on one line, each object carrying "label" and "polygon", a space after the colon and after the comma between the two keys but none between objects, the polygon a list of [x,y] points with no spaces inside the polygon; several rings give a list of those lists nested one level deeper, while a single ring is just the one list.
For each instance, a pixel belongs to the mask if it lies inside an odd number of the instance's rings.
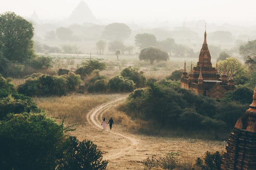
[{"label": "narrow winding pale dirt track with wheel ruts, curving past the couple", "polygon": [[[112,100],[110,102],[107,102],[105,104],[99,105],[98,107],[96,107],[95,109],[91,110],[87,116],[86,119],[87,121],[92,124],[93,126],[95,126],[96,128],[102,129],[101,124],[101,120],[100,118],[100,114],[106,110],[109,109],[110,107],[112,107],[113,105],[125,100],[126,97],[120,97],[118,99]],[[112,133],[114,135],[117,136],[121,136],[123,138],[125,138],[126,140],[130,141],[130,145],[128,145],[126,148],[119,148],[118,150],[115,151],[115,153],[106,153],[106,155],[104,157],[107,158],[107,160],[114,160],[118,157],[120,157],[121,155],[123,155],[124,153],[127,153],[128,151],[132,152],[131,149],[136,149],[137,145],[138,145],[138,139],[136,138],[132,138],[131,135],[123,133],[123,132],[119,132],[119,131],[110,131],[110,130],[106,130],[109,133]]]}]

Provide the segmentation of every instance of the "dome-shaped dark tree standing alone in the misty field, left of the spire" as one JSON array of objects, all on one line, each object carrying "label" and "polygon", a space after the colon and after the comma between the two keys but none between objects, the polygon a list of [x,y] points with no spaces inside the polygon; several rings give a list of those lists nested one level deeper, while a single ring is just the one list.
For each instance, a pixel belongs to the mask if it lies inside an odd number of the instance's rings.
[{"label": "dome-shaped dark tree standing alone in the misty field, left of the spire", "polygon": [[169,59],[169,55],[166,51],[163,51],[161,49],[155,48],[155,47],[149,47],[144,48],[140,51],[139,54],[140,60],[150,61],[150,64],[152,65],[153,62],[156,61],[167,61]]}]

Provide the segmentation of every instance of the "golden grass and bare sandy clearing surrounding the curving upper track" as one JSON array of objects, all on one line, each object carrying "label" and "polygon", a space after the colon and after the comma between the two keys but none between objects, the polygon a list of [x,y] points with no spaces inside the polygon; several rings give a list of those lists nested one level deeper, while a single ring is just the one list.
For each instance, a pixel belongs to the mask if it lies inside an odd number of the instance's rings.
[{"label": "golden grass and bare sandy clearing surrounding the curving upper track", "polygon": [[[123,112],[117,110],[122,107],[122,103],[111,105],[104,108],[99,117],[97,126],[88,122],[86,116],[90,110],[96,108],[111,100],[128,96],[128,94],[110,94],[110,95],[70,95],[65,97],[37,97],[34,98],[38,106],[47,111],[50,117],[66,117],[66,124],[77,124],[76,130],[69,132],[69,135],[77,136],[78,139],[90,139],[103,152],[103,158],[109,161],[107,169],[125,170],[125,169],[144,169],[142,162],[147,157],[159,158],[166,156],[167,153],[179,153],[176,157],[180,164],[190,166],[197,157],[202,157],[209,151],[223,151],[225,141],[209,141],[204,139],[190,138],[183,135],[177,135],[164,131],[155,135],[145,135],[140,133],[140,129],[150,131],[150,122],[133,120]],[[100,121],[103,117],[108,120],[114,119],[113,129],[103,130],[100,127]],[[118,135],[118,134],[121,134]],[[126,136],[126,137],[125,137]],[[131,145],[130,139],[135,141]],[[130,147],[130,149],[125,149]]]}]

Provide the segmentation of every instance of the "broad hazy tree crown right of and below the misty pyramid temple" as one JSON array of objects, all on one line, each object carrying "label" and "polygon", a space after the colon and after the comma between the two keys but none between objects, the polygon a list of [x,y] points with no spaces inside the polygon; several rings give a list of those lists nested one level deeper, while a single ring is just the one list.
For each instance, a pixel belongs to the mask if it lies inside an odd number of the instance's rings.
[{"label": "broad hazy tree crown right of and below the misty pyramid temple", "polygon": [[131,29],[123,23],[112,23],[105,27],[102,37],[112,41],[123,41],[131,34]]}]

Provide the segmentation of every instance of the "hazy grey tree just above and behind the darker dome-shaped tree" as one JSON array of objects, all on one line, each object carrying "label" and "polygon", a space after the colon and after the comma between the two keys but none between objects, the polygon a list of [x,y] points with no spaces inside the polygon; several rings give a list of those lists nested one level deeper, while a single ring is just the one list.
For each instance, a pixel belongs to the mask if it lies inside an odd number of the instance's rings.
[{"label": "hazy grey tree just above and behind the darker dome-shaped tree", "polygon": [[140,49],[148,48],[150,46],[156,46],[156,36],[153,34],[137,34],[135,36],[135,45],[138,46]]}]

